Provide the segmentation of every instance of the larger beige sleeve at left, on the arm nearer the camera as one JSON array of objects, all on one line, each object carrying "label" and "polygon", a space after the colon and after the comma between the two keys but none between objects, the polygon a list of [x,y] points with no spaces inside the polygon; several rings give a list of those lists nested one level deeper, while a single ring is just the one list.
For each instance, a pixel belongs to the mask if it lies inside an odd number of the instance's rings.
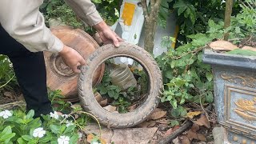
[{"label": "larger beige sleeve at left, on the arm nearer the camera", "polygon": [[31,52],[58,53],[63,43],[46,27],[39,12],[42,0],[0,0],[0,23],[11,37]]}]

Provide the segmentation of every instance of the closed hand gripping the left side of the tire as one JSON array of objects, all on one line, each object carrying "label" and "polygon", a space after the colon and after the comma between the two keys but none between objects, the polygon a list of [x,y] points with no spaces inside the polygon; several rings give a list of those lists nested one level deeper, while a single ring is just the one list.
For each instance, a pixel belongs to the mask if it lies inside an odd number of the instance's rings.
[{"label": "closed hand gripping the left side of the tire", "polygon": [[80,73],[81,70],[78,70],[78,66],[86,64],[86,60],[82,58],[82,56],[76,50],[70,48],[69,46],[64,46],[62,51],[58,54],[60,54],[66,66],[69,66],[74,73]]}]

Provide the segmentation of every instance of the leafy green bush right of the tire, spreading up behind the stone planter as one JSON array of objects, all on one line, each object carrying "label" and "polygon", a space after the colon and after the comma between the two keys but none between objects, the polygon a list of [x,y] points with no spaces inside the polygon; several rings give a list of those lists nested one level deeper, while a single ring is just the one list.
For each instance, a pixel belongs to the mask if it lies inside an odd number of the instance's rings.
[{"label": "leafy green bush right of the tire, spreading up behind the stone planter", "polygon": [[[209,65],[202,62],[202,50],[207,43],[214,39],[223,39],[225,33],[230,34],[231,40],[235,43],[243,38],[255,35],[256,27],[253,22],[256,20],[255,9],[250,6],[240,5],[240,14],[231,18],[231,25],[224,29],[224,22],[218,23],[210,19],[206,34],[198,33],[188,35],[188,44],[171,49],[166,54],[157,58],[163,74],[165,90],[162,102],[170,102],[174,107],[171,114],[174,117],[183,116],[186,110],[182,105],[186,102],[204,103],[213,102],[213,75]],[[164,38],[166,39],[166,38]],[[167,38],[166,42],[170,42]],[[162,46],[168,46],[163,42]]]}]

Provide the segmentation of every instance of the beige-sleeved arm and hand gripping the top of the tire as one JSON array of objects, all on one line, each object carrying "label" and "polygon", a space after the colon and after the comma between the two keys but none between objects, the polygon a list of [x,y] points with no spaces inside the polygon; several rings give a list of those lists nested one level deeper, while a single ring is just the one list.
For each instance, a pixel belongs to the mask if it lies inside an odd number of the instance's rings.
[{"label": "beige-sleeved arm and hand gripping the top of the tire", "polygon": [[114,43],[114,46],[119,46],[122,38],[119,38],[114,31],[110,30],[110,27],[103,21],[90,0],[65,0],[65,2],[78,18],[82,19],[86,24],[93,26],[98,31],[103,43]]}]

